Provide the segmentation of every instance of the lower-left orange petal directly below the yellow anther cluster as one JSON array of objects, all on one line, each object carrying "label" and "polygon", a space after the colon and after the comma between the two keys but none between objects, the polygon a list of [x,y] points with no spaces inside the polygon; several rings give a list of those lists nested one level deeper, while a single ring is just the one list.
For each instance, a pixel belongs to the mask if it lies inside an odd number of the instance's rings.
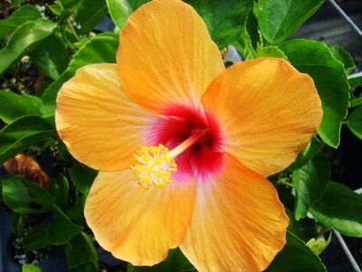
[{"label": "lower-left orange petal directly below the yellow anther cluster", "polygon": [[130,170],[100,172],[84,214],[100,246],[136,266],[152,266],[185,237],[195,200],[195,182],[142,189]]}]

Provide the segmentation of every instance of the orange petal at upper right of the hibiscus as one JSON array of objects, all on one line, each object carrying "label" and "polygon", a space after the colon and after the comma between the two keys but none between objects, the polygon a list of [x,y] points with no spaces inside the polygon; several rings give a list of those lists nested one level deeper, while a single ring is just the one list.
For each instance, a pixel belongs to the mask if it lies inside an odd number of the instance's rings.
[{"label": "orange petal at upper right of the hibiscus", "polygon": [[282,59],[255,59],[228,68],[202,99],[223,124],[225,151],[269,176],[288,167],[322,118],[309,75]]}]

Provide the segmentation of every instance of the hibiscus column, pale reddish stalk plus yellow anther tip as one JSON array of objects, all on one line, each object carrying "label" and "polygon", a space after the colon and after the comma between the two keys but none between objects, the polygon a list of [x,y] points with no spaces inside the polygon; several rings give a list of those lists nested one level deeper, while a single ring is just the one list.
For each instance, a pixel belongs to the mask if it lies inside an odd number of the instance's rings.
[{"label": "hibiscus column, pale reddish stalk plus yellow anther tip", "polygon": [[172,174],[177,171],[175,158],[196,142],[200,141],[205,130],[197,130],[181,142],[175,149],[168,151],[167,147],[158,144],[158,146],[142,146],[133,158],[137,164],[130,169],[133,170],[134,180],[144,189],[150,187],[164,188],[172,181]]}]

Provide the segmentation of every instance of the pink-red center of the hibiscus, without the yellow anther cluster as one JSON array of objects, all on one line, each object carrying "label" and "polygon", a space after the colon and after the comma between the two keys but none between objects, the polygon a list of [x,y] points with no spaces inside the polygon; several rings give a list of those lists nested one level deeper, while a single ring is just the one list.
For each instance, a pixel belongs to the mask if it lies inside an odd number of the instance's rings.
[{"label": "pink-red center of the hibiscus, without the yellow anther cluster", "polygon": [[219,124],[207,112],[185,105],[172,105],[152,124],[151,134],[153,139],[150,144],[161,143],[171,153],[177,153],[177,171],[173,173],[175,181],[187,181],[193,177],[207,180],[222,167],[223,135]]}]

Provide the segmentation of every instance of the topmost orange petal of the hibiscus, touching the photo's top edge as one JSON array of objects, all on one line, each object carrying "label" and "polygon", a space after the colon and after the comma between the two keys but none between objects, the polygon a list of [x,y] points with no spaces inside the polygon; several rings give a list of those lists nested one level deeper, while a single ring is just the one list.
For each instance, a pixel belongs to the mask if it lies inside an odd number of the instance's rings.
[{"label": "topmost orange petal of the hibiscus, touching the photo's top edge", "polygon": [[155,0],[129,16],[117,63],[133,101],[159,112],[170,103],[199,105],[224,70],[221,53],[195,10],[178,0]]}]

